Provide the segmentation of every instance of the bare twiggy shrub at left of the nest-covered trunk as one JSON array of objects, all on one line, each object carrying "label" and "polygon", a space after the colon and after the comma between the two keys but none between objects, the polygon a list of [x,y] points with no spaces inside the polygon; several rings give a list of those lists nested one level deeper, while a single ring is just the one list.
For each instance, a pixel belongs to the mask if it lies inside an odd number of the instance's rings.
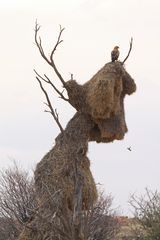
[{"label": "bare twiggy shrub at left of the nest-covered trunk", "polygon": [[34,181],[16,164],[0,175],[0,240],[16,240],[37,208]]}]

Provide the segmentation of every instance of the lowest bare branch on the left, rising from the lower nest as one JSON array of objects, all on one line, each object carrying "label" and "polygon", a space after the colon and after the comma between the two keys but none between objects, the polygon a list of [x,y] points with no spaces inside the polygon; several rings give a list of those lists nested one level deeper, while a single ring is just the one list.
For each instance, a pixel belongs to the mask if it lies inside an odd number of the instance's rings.
[{"label": "lowest bare branch on the left, rising from the lower nest", "polygon": [[47,100],[47,104],[46,104],[46,105],[47,105],[47,106],[49,107],[49,109],[50,109],[50,111],[46,111],[46,112],[49,112],[49,113],[52,114],[52,116],[53,116],[54,120],[56,121],[56,123],[57,123],[60,131],[63,132],[63,127],[62,127],[62,125],[60,124],[60,121],[59,121],[57,112],[55,112],[55,110],[54,110],[53,107],[52,107],[52,104],[51,104],[51,101],[50,101],[50,99],[49,99],[48,93],[47,93],[46,90],[44,89],[44,87],[43,87],[43,85],[42,85],[39,77],[36,76],[36,79],[38,80],[39,85],[40,85],[40,88],[42,89],[42,91],[43,91],[43,93],[44,93],[44,95],[45,95],[45,97],[46,97],[46,100]]}]

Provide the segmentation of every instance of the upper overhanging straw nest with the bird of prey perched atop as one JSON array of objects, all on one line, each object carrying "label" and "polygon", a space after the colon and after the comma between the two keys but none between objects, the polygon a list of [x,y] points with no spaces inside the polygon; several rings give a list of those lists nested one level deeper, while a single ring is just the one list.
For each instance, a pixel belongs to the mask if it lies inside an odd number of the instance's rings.
[{"label": "upper overhanging straw nest with the bird of prey perched atop", "polygon": [[136,91],[136,85],[121,62],[105,64],[82,86],[74,80],[67,84],[71,104],[89,114],[95,123],[90,141],[111,142],[124,138],[127,125],[123,101],[126,94]]}]

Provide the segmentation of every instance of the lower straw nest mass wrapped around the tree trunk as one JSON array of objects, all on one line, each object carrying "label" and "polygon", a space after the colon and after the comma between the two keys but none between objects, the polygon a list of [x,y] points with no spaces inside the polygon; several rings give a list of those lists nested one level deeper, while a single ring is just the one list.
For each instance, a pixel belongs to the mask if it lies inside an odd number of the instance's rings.
[{"label": "lower straw nest mass wrapped around the tree trunk", "polygon": [[[96,201],[96,186],[86,156],[88,128],[91,129],[93,123],[87,121],[86,116],[76,114],[67,125],[65,133],[56,138],[53,149],[37,164],[35,184],[40,199],[43,195],[60,190],[63,200],[73,209],[76,178],[79,176],[83,183],[83,208],[88,209]],[[77,126],[77,131],[74,125]]]}]

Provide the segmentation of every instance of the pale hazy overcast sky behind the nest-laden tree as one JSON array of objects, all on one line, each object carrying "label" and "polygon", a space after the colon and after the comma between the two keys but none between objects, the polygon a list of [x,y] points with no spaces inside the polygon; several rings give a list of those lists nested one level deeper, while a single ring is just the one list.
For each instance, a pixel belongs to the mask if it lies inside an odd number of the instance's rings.
[{"label": "pale hazy overcast sky behind the nest-laden tree", "polygon": [[[34,44],[35,21],[49,55],[65,27],[55,61],[65,80],[88,81],[115,45],[123,60],[133,37],[126,70],[137,92],[125,98],[128,133],[110,144],[89,144],[88,157],[97,184],[129,214],[132,193],[160,190],[160,2],[159,0],[0,0],[0,169],[16,160],[34,169],[54,145],[56,123],[44,113],[44,96],[33,69],[48,74],[61,88]],[[49,91],[65,127],[75,110]],[[127,147],[132,148],[128,151]]]}]

